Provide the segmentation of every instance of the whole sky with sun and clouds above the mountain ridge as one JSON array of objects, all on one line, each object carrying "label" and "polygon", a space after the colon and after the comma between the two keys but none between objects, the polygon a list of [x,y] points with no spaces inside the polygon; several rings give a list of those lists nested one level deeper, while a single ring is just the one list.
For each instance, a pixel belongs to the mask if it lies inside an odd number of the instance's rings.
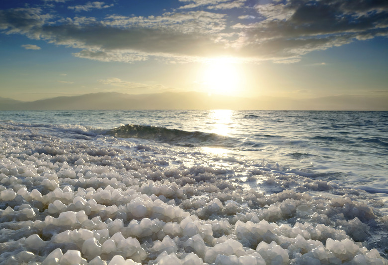
[{"label": "whole sky with sun and clouds above the mountain ridge", "polygon": [[387,37],[388,0],[1,0],[0,97],[388,98]]}]

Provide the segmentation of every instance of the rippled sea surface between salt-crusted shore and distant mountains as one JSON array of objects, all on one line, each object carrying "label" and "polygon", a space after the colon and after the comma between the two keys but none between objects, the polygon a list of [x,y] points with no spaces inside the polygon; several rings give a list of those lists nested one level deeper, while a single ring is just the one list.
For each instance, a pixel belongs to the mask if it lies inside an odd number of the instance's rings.
[{"label": "rippled sea surface between salt-crusted shore and distant mountains", "polygon": [[388,193],[388,112],[3,111],[0,120],[264,159],[283,170]]}]

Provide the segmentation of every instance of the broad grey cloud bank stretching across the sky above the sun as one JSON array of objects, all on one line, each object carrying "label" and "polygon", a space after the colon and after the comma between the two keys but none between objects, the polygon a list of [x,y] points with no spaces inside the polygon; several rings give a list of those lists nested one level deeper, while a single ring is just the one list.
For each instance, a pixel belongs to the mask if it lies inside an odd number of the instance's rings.
[{"label": "broad grey cloud bank stretching across the sky above the sun", "polygon": [[[181,9],[148,17],[70,18],[40,8],[0,10],[0,30],[79,49],[73,53],[76,57],[128,63],[215,56],[294,63],[312,51],[388,36],[388,1],[276,0],[253,9],[247,9],[250,2],[245,0],[180,2]],[[106,5],[76,6],[71,8],[81,11]],[[238,23],[228,16],[232,7]]]}]

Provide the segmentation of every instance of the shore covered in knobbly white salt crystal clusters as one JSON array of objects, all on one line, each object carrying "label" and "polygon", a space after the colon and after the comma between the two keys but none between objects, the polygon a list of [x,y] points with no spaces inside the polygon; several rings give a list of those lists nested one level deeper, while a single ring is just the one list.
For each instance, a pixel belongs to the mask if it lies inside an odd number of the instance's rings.
[{"label": "shore covered in knobbly white salt crystal clusters", "polygon": [[0,124],[0,264],[388,264],[364,246],[388,218],[363,191],[45,130]]}]

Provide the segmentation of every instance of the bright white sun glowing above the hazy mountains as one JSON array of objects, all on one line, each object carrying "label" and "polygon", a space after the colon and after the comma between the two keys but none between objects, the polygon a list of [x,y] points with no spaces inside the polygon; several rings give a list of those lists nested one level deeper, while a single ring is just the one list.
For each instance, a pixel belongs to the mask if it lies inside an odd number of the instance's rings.
[{"label": "bright white sun glowing above the hazy mountains", "polygon": [[210,60],[201,73],[201,84],[209,94],[234,95],[241,81],[239,64],[230,58]]}]

